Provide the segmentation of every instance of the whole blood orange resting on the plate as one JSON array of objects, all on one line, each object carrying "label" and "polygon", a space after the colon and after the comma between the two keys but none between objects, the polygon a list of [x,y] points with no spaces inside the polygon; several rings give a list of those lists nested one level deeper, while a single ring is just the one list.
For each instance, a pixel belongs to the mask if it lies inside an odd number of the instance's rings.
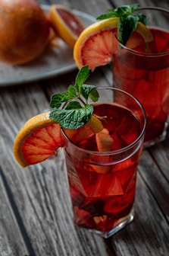
[{"label": "whole blood orange resting on the plate", "polygon": [[49,43],[49,20],[35,0],[0,1],[0,60],[30,62]]}]

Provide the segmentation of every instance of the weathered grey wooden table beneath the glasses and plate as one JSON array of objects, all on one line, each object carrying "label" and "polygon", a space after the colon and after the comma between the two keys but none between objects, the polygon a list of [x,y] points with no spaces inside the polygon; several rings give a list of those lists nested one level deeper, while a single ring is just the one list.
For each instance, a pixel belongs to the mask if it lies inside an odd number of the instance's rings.
[{"label": "weathered grey wooden table beneath the glasses and plate", "polygon": [[[94,17],[122,0],[50,1]],[[167,1],[137,1],[169,8]],[[135,1],[125,1],[135,3]],[[72,221],[64,155],[20,168],[13,143],[20,126],[49,110],[50,96],[74,82],[66,75],[0,88],[0,256],[167,256],[169,255],[169,140],[142,152],[136,187],[135,219],[111,238],[78,229]],[[93,85],[112,85],[111,67],[95,69]]]}]

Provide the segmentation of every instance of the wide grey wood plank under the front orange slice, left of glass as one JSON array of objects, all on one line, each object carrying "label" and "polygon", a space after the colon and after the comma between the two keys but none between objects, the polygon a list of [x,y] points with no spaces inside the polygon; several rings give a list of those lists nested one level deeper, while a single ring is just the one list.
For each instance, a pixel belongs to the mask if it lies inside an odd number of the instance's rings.
[{"label": "wide grey wood plank under the front orange slice, left of glass", "polygon": [[36,85],[22,86],[22,90],[2,88],[0,102],[2,171],[17,207],[17,213],[14,212],[17,224],[21,223],[23,233],[27,233],[24,242],[32,246],[28,252],[31,256],[107,255],[102,238],[74,226],[63,152],[57,158],[26,169],[14,161],[14,136],[20,126],[33,115],[49,109],[41,88]]}]

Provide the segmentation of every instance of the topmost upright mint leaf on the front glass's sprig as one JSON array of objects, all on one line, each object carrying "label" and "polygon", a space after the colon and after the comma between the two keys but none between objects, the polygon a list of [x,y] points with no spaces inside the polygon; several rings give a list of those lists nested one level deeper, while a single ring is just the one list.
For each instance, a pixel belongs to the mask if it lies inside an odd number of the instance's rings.
[{"label": "topmost upright mint leaf on the front glass's sprig", "polygon": [[83,85],[83,83],[86,81],[86,79],[89,77],[89,66],[83,66],[82,69],[77,74],[77,77],[75,79],[75,87],[77,88],[77,91],[80,93],[80,88]]}]

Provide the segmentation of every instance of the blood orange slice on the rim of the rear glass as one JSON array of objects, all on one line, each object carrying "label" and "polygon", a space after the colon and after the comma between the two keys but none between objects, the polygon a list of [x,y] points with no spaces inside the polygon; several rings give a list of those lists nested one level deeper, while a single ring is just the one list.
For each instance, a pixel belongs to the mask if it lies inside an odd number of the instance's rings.
[{"label": "blood orange slice on the rim of the rear glass", "polygon": [[[118,20],[119,18],[108,18],[83,30],[74,46],[74,60],[79,69],[86,65],[89,65],[89,69],[95,69],[111,62],[113,54],[118,50],[115,37]],[[140,22],[132,37],[128,41],[132,43],[132,47],[140,45],[142,39],[146,43],[153,40],[150,30]]]}]

